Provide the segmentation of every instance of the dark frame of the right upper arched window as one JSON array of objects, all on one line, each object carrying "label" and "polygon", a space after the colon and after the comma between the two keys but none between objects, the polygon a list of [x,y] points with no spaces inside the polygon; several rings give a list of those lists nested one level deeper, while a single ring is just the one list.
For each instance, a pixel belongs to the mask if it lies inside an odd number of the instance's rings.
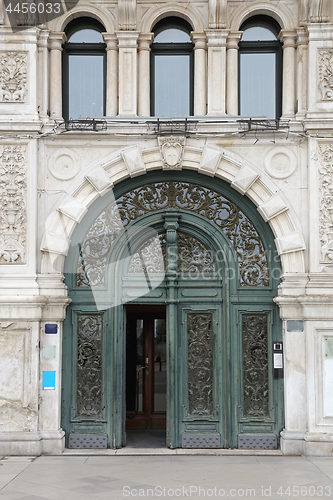
[{"label": "dark frame of the right upper arched window", "polygon": [[[276,38],[281,28],[274,19],[267,18],[267,16],[254,16],[246,20],[240,28],[240,31],[245,31],[259,24],[263,28],[267,28],[273,33],[275,32]],[[241,114],[241,55],[242,54],[275,54],[275,120],[281,118],[282,115],[282,78],[283,78],[283,50],[281,42],[277,40],[258,40],[239,42],[238,50],[238,110],[239,116]],[[269,119],[269,118],[268,118]]]}]

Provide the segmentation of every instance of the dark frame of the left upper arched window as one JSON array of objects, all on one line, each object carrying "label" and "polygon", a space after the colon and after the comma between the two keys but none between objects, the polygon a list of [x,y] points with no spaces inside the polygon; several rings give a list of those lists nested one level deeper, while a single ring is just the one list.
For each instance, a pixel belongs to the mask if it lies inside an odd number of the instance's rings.
[{"label": "dark frame of the left upper arched window", "polygon": [[[94,19],[84,18],[75,20],[74,24],[70,23],[68,29],[65,30],[66,36],[70,38],[77,31],[83,29],[94,29],[103,33],[103,26]],[[107,75],[107,59],[106,59],[106,43],[71,43],[65,42],[62,53],[62,109],[63,118],[70,120],[69,116],[69,56],[103,56],[103,116],[106,115],[106,75]],[[97,115],[96,115],[97,116]],[[77,119],[77,118],[75,118]]]}]

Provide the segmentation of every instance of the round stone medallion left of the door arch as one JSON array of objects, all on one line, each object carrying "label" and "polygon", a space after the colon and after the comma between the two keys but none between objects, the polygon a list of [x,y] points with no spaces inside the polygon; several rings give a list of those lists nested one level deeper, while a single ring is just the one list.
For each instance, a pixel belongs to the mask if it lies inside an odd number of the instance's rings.
[{"label": "round stone medallion left of the door arch", "polygon": [[53,177],[61,181],[73,179],[80,171],[81,158],[76,151],[61,148],[54,151],[48,162],[48,168]]}]

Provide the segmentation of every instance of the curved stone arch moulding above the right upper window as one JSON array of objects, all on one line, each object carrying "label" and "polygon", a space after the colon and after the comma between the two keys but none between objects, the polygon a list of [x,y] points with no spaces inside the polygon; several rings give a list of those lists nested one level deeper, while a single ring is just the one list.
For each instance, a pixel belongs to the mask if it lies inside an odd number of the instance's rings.
[{"label": "curved stone arch moulding above the right upper window", "polygon": [[281,26],[281,29],[294,28],[291,12],[288,12],[286,7],[282,6],[280,2],[278,7],[273,5],[273,3],[268,7],[267,2],[260,1],[253,3],[242,2],[241,6],[231,16],[230,29],[238,31],[246,19],[259,14],[275,19]]}]

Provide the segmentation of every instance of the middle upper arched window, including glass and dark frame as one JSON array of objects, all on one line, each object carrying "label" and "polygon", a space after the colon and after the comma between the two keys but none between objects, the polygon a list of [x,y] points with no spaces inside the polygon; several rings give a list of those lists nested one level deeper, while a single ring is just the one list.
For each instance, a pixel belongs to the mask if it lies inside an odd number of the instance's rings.
[{"label": "middle upper arched window, including glass and dark frame", "polygon": [[154,28],[151,50],[151,115],[193,115],[193,44],[191,26],[177,17]]}]

